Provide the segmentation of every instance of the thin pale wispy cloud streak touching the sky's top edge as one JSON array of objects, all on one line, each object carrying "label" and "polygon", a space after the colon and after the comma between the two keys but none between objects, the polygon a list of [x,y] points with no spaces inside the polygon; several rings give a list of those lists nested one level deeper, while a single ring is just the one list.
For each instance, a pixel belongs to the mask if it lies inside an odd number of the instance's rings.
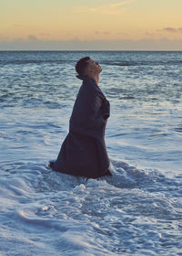
[{"label": "thin pale wispy cloud streak touching the sky's top edge", "polygon": [[104,13],[104,14],[119,14],[119,6],[128,5],[130,3],[135,2],[136,0],[123,0],[115,4],[109,5],[98,5],[96,7],[81,7],[75,6],[73,8],[76,13]]}]

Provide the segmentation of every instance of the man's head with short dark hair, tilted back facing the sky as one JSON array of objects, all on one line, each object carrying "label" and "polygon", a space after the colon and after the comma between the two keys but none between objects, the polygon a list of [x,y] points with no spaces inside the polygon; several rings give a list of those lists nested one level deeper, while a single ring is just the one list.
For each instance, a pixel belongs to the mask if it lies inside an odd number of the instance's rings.
[{"label": "man's head with short dark hair, tilted back facing the sky", "polygon": [[81,76],[93,77],[98,75],[102,71],[98,62],[90,59],[90,57],[85,57],[79,59],[76,63],[76,72]]}]

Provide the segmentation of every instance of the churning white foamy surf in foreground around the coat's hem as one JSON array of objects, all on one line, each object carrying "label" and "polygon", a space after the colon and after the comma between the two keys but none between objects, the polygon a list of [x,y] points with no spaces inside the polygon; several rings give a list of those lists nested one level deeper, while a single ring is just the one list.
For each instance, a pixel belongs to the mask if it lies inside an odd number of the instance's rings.
[{"label": "churning white foamy surf in foreground around the coat's hem", "polygon": [[96,180],[31,162],[5,163],[1,175],[5,255],[18,255],[20,245],[24,255],[180,255],[179,178],[120,161],[113,177]]}]

